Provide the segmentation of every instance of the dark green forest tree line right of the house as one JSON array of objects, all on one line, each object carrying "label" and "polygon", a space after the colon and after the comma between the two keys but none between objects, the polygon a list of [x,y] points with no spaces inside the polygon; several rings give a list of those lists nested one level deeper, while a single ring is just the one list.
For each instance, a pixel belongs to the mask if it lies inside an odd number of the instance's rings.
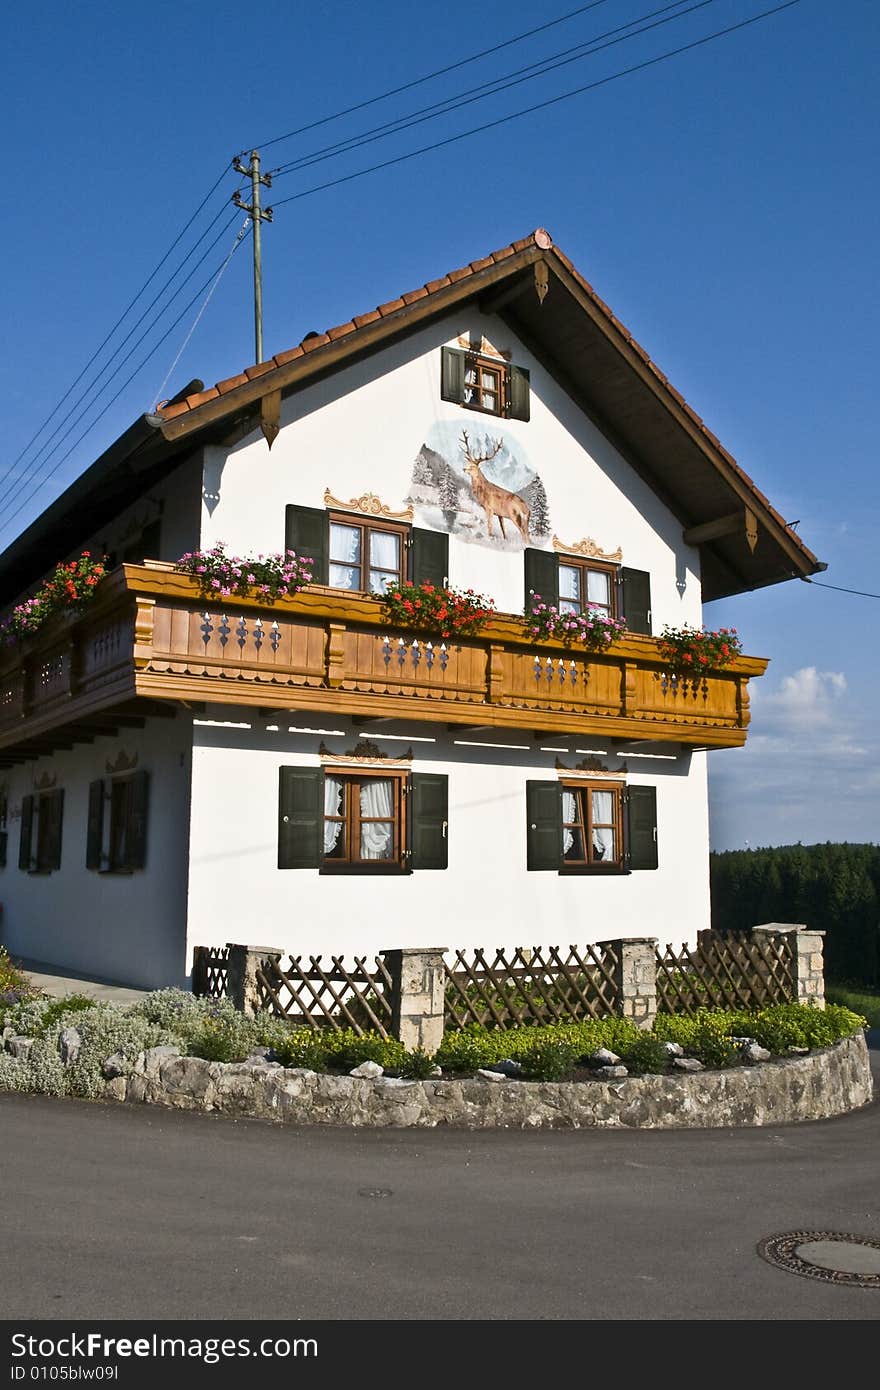
[{"label": "dark green forest tree line right of the house", "polygon": [[880,988],[880,845],[776,845],[710,855],[712,926],[824,931],[826,976]]}]

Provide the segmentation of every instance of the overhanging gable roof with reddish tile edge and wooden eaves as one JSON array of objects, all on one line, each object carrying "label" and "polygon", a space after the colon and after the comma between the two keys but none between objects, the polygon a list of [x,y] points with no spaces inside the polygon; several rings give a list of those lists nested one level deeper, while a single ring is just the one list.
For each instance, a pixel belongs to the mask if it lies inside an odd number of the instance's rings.
[{"label": "overhanging gable roof with reddish tile edge and wooden eaves", "polygon": [[538,228],[140,417],[0,556],[0,602],[195,448],[228,439],[236,424],[241,432],[254,428],[267,396],[303,389],[467,303],[505,320],[678,517],[685,539],[701,548],[705,600],[824,569],[549,232]]}]

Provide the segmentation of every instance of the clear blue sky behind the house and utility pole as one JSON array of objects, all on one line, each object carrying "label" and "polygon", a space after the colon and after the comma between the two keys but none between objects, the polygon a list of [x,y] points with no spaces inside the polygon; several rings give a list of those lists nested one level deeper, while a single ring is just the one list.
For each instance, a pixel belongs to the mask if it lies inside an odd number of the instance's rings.
[{"label": "clear blue sky behind the house and utility pole", "polygon": [[[874,0],[801,0],[521,120],[279,206],[694,43],[773,0],[710,0],[685,13],[692,3],[602,0],[480,63],[272,146],[278,135],[549,24],[576,3],[328,0],[249,11],[227,0],[47,0],[19,10],[0,56],[0,546],[157,400],[203,296],[63,460],[229,250],[241,218],[224,229],[222,214],[170,286],[221,232],[168,314],[104,395],[78,404],[165,274],[221,211],[236,185],[232,174],[92,373],[14,464],[234,153],[257,145],[270,168],[310,156],[653,13],[642,22],[676,18],[279,177],[275,222],[263,242],[266,353],[544,225],[785,518],[798,521],[829,564],[817,578],[880,592]],[[245,243],[163,395],[253,360],[250,292]],[[747,749],[710,759],[716,848],[880,838],[879,612],[874,599],[797,581],[706,609],[708,624],[737,626],[749,652],[772,657],[752,687]]]}]

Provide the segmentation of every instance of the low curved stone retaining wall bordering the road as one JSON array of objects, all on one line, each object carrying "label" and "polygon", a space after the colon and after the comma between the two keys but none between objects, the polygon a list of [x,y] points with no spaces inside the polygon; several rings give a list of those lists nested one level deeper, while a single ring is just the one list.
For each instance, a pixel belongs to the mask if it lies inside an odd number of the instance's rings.
[{"label": "low curved stone retaining wall bordering the road", "polygon": [[289,1125],[456,1129],[723,1129],[826,1119],[873,1095],[862,1033],[806,1056],[680,1076],[577,1083],[363,1080],[272,1062],[142,1054],[107,1081],[114,1101],[214,1111]]}]

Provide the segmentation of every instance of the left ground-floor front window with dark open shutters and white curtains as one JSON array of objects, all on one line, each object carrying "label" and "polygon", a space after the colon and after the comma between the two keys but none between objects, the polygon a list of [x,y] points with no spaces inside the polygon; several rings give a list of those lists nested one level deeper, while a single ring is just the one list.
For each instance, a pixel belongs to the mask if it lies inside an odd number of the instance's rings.
[{"label": "left ground-floor front window with dark open shutters and white curtains", "polygon": [[446,828],[445,776],[350,766],[279,770],[279,869],[445,869]]}]

